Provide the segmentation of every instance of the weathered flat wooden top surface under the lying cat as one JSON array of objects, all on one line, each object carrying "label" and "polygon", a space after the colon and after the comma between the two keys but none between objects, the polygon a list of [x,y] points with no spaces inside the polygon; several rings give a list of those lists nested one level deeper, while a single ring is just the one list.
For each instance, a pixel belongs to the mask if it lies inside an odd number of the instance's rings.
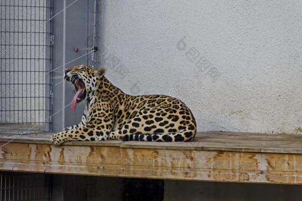
[{"label": "weathered flat wooden top surface under the lying cat", "polygon": [[[13,142],[49,144],[50,135],[47,133],[21,136],[0,134],[0,141],[14,139]],[[192,142],[123,142],[121,140],[108,140],[97,142],[69,141],[65,145],[302,154],[302,135],[208,132],[197,134]]]}]

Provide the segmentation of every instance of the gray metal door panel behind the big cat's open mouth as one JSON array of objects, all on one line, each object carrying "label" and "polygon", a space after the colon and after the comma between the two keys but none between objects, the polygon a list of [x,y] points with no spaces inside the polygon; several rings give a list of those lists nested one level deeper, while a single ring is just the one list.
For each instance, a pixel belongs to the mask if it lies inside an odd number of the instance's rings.
[{"label": "gray metal door panel behind the big cat's open mouth", "polygon": [[[70,102],[74,95],[72,84],[63,81],[63,69],[75,65],[100,66],[100,0],[54,0],[53,11],[53,110],[52,131],[78,124],[84,104],[74,112]],[[94,47],[98,51],[94,51]]]}]

